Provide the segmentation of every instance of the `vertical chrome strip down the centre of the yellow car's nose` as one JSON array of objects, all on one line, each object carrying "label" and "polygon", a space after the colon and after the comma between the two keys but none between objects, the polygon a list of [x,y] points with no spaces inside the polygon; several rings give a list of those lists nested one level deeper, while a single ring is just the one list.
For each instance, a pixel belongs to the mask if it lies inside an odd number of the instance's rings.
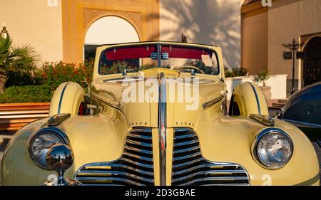
[{"label": "vertical chrome strip down the centre of the yellow car's nose", "polygon": [[160,164],[160,185],[166,184],[166,79],[164,74],[160,73],[159,95],[158,95],[158,137],[159,137],[159,164]]}]

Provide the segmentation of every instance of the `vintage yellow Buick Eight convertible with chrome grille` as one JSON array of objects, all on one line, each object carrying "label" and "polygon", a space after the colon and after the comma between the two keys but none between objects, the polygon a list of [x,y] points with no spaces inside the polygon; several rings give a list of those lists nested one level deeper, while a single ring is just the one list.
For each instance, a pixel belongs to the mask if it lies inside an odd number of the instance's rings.
[{"label": "vintage yellow Buick Eight convertible with chrome grille", "polygon": [[101,46],[88,93],[61,84],[49,118],[12,137],[1,184],[319,185],[312,144],[257,85],[226,97],[217,46]]}]

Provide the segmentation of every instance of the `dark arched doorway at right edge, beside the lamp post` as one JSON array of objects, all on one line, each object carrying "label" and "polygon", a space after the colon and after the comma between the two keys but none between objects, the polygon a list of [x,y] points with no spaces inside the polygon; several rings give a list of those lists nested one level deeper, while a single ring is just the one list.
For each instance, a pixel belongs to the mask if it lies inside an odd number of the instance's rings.
[{"label": "dark arched doorway at right edge, beside the lamp post", "polygon": [[306,86],[321,80],[321,37],[310,39],[303,52],[303,83]]}]

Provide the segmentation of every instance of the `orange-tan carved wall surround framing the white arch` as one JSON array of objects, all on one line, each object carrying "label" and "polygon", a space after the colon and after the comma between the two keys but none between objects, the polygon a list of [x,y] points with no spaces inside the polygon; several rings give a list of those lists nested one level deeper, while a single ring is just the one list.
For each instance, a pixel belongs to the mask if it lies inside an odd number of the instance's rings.
[{"label": "orange-tan carved wall surround framing the white arch", "polygon": [[63,61],[81,63],[86,32],[94,21],[117,16],[135,28],[140,41],[159,39],[158,0],[61,0]]}]

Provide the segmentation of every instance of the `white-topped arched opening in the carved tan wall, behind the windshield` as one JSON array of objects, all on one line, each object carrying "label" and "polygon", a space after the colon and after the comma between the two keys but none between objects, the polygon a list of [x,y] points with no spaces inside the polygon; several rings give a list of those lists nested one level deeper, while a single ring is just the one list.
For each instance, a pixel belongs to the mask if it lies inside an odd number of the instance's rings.
[{"label": "white-topped arched opening in the carved tan wall, behind the windshield", "polygon": [[96,48],[109,43],[138,42],[135,28],[121,17],[105,16],[96,20],[88,28],[85,36],[83,58],[94,58]]}]

